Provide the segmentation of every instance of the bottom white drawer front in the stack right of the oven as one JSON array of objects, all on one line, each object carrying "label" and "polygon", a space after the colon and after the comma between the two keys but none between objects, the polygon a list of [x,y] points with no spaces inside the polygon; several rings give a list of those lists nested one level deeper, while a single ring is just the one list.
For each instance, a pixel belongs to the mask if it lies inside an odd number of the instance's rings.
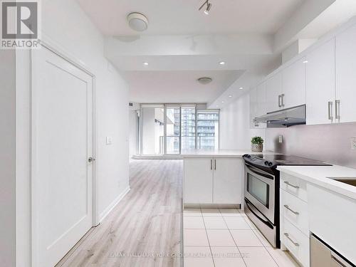
[{"label": "bottom white drawer front in the stack right of the oven", "polygon": [[286,218],[283,218],[281,241],[304,267],[310,266],[309,238]]}]

